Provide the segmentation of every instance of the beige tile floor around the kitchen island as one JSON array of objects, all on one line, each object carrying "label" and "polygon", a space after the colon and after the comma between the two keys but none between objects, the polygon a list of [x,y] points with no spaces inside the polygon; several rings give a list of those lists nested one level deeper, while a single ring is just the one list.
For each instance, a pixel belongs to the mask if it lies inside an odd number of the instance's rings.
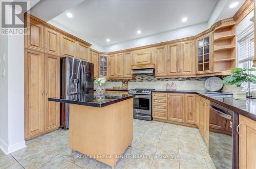
[{"label": "beige tile floor around the kitchen island", "polygon": [[[71,152],[68,130],[56,130],[26,142],[27,147],[5,155],[0,168],[110,168]],[[134,119],[134,139],[115,168],[214,168],[197,128]]]}]

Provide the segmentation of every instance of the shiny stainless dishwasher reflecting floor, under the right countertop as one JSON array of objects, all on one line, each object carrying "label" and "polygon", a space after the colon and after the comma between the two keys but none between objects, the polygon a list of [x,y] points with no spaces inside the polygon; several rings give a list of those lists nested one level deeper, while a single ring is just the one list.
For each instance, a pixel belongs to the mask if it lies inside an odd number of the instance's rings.
[{"label": "shiny stainless dishwasher reflecting floor, under the right countertop", "polygon": [[238,114],[210,102],[209,155],[218,168],[238,168]]}]

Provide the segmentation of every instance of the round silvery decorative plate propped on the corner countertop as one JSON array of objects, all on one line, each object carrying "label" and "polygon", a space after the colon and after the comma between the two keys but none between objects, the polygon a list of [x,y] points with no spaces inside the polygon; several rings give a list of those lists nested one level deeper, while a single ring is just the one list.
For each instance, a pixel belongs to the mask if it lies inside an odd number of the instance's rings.
[{"label": "round silvery decorative plate propped on the corner countertop", "polygon": [[205,80],[204,86],[208,91],[219,91],[223,87],[222,79],[217,76],[209,77]]}]

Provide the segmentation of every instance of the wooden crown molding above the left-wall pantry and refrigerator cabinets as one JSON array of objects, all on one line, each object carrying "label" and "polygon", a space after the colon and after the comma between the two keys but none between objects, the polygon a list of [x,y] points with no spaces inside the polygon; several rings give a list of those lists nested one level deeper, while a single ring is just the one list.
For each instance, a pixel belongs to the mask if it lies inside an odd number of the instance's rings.
[{"label": "wooden crown molding above the left-wall pantry and refrigerator cabinets", "polygon": [[54,30],[54,31],[56,31],[56,32],[59,32],[59,33],[62,34],[62,35],[65,35],[65,36],[67,36],[67,37],[69,37],[69,38],[75,39],[76,41],[82,42],[82,43],[84,43],[84,44],[86,44],[86,45],[88,45],[88,46],[92,46],[92,44],[90,44],[90,43],[88,43],[88,42],[86,42],[86,41],[84,41],[84,40],[81,40],[80,38],[77,38],[77,37],[75,37],[74,35],[71,35],[71,34],[65,32],[65,31],[62,31],[62,30],[58,29],[57,27],[55,27],[55,26],[53,26],[53,25],[51,25],[51,24],[45,22],[44,20],[41,20],[41,19],[39,19],[39,18],[33,16],[33,15],[30,15],[30,14],[28,14],[28,13],[25,13],[24,16],[25,16],[25,19],[26,19],[27,22],[30,22],[30,21],[32,20],[32,21],[34,21],[34,22],[40,23],[40,24],[42,24],[42,25],[44,25],[44,26],[47,26],[47,27],[49,27],[50,29],[52,29],[52,30]]}]

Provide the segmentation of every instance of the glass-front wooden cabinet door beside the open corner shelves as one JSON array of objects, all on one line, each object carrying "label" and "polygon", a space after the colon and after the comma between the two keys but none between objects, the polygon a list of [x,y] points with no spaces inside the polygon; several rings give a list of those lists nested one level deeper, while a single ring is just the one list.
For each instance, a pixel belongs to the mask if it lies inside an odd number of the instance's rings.
[{"label": "glass-front wooden cabinet door beside the open corner shelves", "polygon": [[212,33],[196,40],[197,74],[212,73]]}]

